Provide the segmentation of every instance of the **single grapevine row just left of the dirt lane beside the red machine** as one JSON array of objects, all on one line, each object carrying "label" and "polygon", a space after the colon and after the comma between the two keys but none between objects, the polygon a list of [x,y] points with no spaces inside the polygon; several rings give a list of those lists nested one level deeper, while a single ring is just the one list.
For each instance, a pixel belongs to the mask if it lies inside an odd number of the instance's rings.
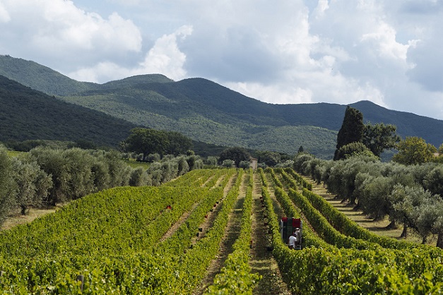
[{"label": "single grapevine row just left of the dirt lane beside the red machine", "polygon": [[232,248],[234,251],[225,260],[225,266],[215,276],[214,283],[206,294],[252,294],[259,275],[251,273],[249,265],[249,246],[252,231],[252,189],[254,186],[252,169],[249,169],[249,185],[242,208],[242,227],[240,236]]}]

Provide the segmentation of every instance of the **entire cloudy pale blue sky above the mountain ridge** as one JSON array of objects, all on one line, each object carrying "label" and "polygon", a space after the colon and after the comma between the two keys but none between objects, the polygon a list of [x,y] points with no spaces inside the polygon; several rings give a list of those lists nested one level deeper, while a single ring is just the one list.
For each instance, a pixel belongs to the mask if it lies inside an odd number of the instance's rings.
[{"label": "entire cloudy pale blue sky above the mountain ridge", "polygon": [[443,119],[442,0],[0,0],[0,54],[105,83],[201,77],[275,104]]}]

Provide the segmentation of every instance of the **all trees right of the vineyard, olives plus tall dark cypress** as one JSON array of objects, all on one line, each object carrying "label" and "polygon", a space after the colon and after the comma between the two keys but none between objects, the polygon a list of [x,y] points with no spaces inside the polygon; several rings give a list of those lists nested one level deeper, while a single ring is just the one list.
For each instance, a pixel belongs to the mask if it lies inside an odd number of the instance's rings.
[{"label": "all trees right of the vineyard, olives plus tall dark cypress", "polygon": [[[388,227],[402,224],[401,237],[412,229],[426,243],[437,234],[443,248],[443,145],[437,150],[423,138],[401,140],[396,126],[365,125],[362,118],[358,109],[347,107],[333,160],[300,152],[294,169],[368,217],[389,217]],[[394,148],[392,161],[380,162],[380,154]]]}]

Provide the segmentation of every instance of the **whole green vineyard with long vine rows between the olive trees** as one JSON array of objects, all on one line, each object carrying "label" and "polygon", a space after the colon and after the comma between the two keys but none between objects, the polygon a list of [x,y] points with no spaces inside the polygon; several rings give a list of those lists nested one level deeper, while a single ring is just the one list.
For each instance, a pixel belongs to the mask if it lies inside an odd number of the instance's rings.
[{"label": "whole green vineyard with long vine rows between the olive trees", "polygon": [[[302,250],[279,219],[302,218]],[[293,169],[200,169],[0,233],[1,294],[440,294],[442,249],[377,236]]]}]

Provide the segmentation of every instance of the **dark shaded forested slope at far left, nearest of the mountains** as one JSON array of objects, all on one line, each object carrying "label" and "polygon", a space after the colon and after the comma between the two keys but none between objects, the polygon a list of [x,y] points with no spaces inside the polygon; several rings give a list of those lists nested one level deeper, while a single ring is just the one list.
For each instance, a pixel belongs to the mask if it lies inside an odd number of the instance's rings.
[{"label": "dark shaded forested slope at far left, nearest of the mountains", "polygon": [[0,76],[0,140],[88,140],[117,146],[136,127]]}]

